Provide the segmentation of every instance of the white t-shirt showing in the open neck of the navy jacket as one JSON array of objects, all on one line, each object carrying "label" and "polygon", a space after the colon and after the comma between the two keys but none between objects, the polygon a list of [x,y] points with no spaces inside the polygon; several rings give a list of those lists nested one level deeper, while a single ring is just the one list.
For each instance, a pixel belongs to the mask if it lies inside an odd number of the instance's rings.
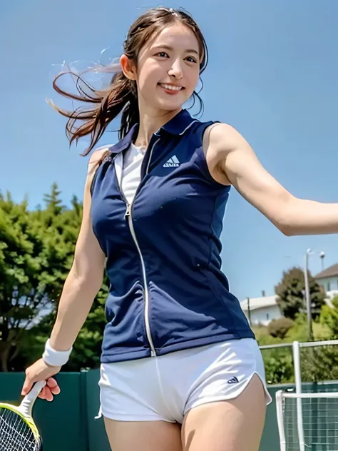
[{"label": "white t-shirt showing in the open neck of the navy jacket", "polygon": [[118,183],[128,203],[133,202],[135,192],[140,184],[140,168],[144,154],[145,148],[135,147],[131,143],[126,151],[118,153],[115,158]]}]

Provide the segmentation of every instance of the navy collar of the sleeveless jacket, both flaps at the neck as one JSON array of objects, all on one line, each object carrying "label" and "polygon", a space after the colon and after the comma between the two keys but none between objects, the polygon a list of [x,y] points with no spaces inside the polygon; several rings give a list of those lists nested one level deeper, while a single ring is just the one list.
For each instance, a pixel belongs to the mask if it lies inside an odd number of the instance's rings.
[{"label": "navy collar of the sleeveless jacket, both flaps at the neck", "polygon": [[[171,133],[172,135],[183,135],[185,131],[190,128],[193,123],[199,122],[198,119],[194,119],[190,116],[190,113],[188,113],[187,110],[181,110],[179,113],[176,114],[170,121],[164,124],[156,133],[156,136],[160,136],[160,132],[162,130]],[[130,146],[130,143],[132,143],[138,133],[138,123],[135,123],[135,125],[130,128],[130,131],[124,136],[118,143],[114,144],[109,148],[111,153],[120,153],[121,151],[126,150]]]}]

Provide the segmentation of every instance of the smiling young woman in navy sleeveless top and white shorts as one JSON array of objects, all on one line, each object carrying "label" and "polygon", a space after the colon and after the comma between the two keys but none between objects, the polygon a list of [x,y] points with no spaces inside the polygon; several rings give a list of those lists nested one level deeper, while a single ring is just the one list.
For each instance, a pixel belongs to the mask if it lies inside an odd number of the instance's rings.
[{"label": "smiling young woman in navy sleeveless top and white shorts", "polygon": [[207,60],[188,14],[151,9],[130,27],[111,86],[78,96],[92,109],[58,109],[70,118],[71,141],[91,134],[88,152],[119,113],[121,140],[90,158],[73,266],[23,393],[38,380],[47,381],[42,398],[60,391],[52,376],[68,360],[106,268],[99,384],[114,451],[259,448],[270,402],[262,357],[220,270],[231,185],[285,235],[338,230],[337,205],[295,198],[234,128],[183,110]]}]

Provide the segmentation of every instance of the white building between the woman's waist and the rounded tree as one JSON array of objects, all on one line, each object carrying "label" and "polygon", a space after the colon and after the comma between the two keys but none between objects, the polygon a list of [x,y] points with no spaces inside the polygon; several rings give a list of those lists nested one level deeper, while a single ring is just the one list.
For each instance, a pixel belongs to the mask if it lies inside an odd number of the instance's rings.
[{"label": "white building between the woman's waist and the rounded tree", "polygon": [[247,298],[242,300],[240,306],[251,325],[267,325],[282,317],[277,295]]}]

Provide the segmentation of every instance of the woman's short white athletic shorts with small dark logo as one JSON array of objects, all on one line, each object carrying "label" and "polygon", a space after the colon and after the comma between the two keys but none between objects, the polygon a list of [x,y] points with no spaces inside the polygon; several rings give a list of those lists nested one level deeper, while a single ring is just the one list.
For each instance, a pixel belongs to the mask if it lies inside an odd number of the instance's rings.
[{"label": "woman's short white athletic shorts with small dark logo", "polygon": [[183,422],[193,407],[230,400],[257,374],[267,392],[256,340],[242,338],[158,357],[101,365],[101,413],[122,421]]}]

